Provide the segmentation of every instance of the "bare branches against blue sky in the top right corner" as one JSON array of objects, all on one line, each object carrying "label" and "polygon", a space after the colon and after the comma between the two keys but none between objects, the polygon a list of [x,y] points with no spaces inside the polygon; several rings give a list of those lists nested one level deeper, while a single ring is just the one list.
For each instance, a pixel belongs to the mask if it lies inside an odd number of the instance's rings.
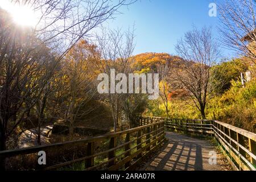
[{"label": "bare branches against blue sky in the top right corner", "polygon": [[254,0],[228,0],[218,4],[222,43],[242,55],[256,59],[256,3]]}]

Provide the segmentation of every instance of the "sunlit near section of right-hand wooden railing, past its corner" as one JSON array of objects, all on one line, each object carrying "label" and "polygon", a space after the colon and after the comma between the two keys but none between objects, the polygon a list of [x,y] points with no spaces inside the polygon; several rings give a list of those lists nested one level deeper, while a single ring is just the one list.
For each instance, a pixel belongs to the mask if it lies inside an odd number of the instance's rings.
[{"label": "sunlit near section of right-hand wooden railing, past its corner", "polygon": [[213,131],[234,169],[256,171],[255,133],[220,121],[213,122]]}]

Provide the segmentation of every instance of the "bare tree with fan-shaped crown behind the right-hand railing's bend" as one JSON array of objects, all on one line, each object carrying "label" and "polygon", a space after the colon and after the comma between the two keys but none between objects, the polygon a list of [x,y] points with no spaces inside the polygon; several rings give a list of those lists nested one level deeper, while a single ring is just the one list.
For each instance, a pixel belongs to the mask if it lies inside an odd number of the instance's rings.
[{"label": "bare tree with fan-shaped crown behind the right-hand railing's bend", "polygon": [[200,31],[194,28],[177,42],[176,52],[184,59],[184,64],[176,69],[174,80],[189,92],[194,106],[205,119],[205,106],[214,90],[210,85],[210,68],[220,56],[219,45],[209,28]]}]

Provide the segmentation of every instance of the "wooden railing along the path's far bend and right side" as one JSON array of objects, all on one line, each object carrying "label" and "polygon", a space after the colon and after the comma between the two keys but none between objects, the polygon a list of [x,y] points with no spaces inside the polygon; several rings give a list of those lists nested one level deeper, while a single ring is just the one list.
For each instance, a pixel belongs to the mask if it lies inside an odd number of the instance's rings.
[{"label": "wooden railing along the path's far bend and right side", "polygon": [[256,170],[256,134],[224,122],[200,119],[139,117],[140,121],[164,121],[167,129],[188,134],[212,135],[217,139],[232,167]]}]

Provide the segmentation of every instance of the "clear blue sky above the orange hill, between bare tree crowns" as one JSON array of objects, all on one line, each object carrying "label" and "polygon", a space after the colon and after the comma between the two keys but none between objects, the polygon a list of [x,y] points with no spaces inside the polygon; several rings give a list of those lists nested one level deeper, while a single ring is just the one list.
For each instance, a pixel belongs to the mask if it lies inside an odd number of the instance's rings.
[{"label": "clear blue sky above the orange hill, between bare tree crowns", "polygon": [[[217,17],[210,17],[209,3],[214,0],[141,0],[121,9],[123,14],[109,21],[110,28],[127,28],[135,24],[134,55],[142,52],[175,54],[175,44],[193,25],[212,27],[219,35]],[[218,15],[217,15],[218,16]],[[231,52],[224,49],[224,56]]]}]

